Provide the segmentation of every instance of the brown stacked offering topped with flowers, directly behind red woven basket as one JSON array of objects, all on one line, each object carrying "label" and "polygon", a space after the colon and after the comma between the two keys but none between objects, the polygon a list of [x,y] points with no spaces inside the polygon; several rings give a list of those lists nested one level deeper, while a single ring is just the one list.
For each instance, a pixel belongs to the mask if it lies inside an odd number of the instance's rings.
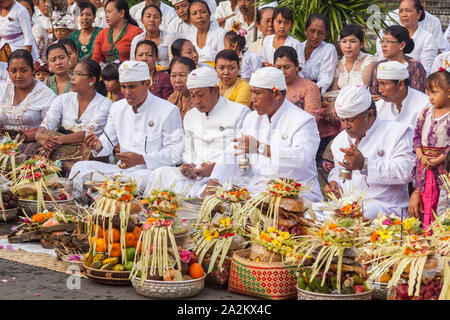
[{"label": "brown stacked offering topped with flowers, directly behind red woven basket", "polygon": [[[304,217],[305,200],[301,194],[309,189],[295,179],[274,179],[267,184],[267,191],[251,198],[242,208],[243,223],[262,223],[295,235],[308,233],[314,222]],[[245,225],[244,225],[245,227]]]}]

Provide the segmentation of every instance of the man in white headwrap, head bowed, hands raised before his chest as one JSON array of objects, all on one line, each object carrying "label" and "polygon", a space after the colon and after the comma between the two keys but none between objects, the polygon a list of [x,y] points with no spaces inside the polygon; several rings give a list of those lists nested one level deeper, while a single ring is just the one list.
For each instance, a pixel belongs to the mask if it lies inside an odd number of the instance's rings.
[{"label": "man in white headwrap, head bowed, hands raised before his chest", "polygon": [[[370,91],[363,84],[341,89],[335,103],[344,129],[331,144],[335,167],[328,176],[325,192],[339,196],[338,188],[354,195],[366,194],[364,216],[378,213],[401,216],[408,207],[408,182],[414,165],[408,126],[377,118]],[[342,169],[350,170],[344,180]],[[404,210],[407,215],[407,210]]]}]

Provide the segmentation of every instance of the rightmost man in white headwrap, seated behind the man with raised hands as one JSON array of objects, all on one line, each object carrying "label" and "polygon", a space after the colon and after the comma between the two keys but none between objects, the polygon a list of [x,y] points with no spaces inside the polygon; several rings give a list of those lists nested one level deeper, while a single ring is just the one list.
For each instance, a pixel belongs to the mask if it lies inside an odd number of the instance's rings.
[{"label": "rightmost man in white headwrap, seated behind the man with raised hands", "polygon": [[408,64],[398,61],[380,63],[377,68],[378,92],[375,105],[378,117],[401,122],[414,130],[420,112],[430,105],[428,96],[409,86]]}]

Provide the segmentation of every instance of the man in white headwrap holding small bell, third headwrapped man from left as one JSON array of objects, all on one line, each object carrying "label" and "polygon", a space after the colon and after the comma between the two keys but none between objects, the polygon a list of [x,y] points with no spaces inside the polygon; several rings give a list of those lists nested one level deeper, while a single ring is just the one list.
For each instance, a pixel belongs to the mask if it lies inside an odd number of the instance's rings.
[{"label": "man in white headwrap holding small bell, third headwrapped man from left", "polygon": [[[209,186],[239,184],[253,194],[265,190],[271,179],[294,178],[310,185],[305,197],[322,200],[315,156],[320,138],[314,117],[286,99],[286,81],[281,70],[261,68],[250,79],[251,107],[241,133],[214,167]],[[238,160],[249,158],[248,180],[239,174]],[[204,195],[211,192],[205,189]]]}]

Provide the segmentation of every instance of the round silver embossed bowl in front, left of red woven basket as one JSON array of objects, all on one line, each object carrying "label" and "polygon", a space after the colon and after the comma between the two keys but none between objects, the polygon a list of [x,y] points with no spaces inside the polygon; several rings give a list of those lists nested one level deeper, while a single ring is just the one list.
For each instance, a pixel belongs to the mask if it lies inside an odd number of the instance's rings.
[{"label": "round silver embossed bowl in front, left of red woven basket", "polygon": [[145,280],[134,278],[132,285],[136,292],[142,296],[155,299],[181,299],[198,295],[205,286],[206,274],[198,279],[183,281]]}]

